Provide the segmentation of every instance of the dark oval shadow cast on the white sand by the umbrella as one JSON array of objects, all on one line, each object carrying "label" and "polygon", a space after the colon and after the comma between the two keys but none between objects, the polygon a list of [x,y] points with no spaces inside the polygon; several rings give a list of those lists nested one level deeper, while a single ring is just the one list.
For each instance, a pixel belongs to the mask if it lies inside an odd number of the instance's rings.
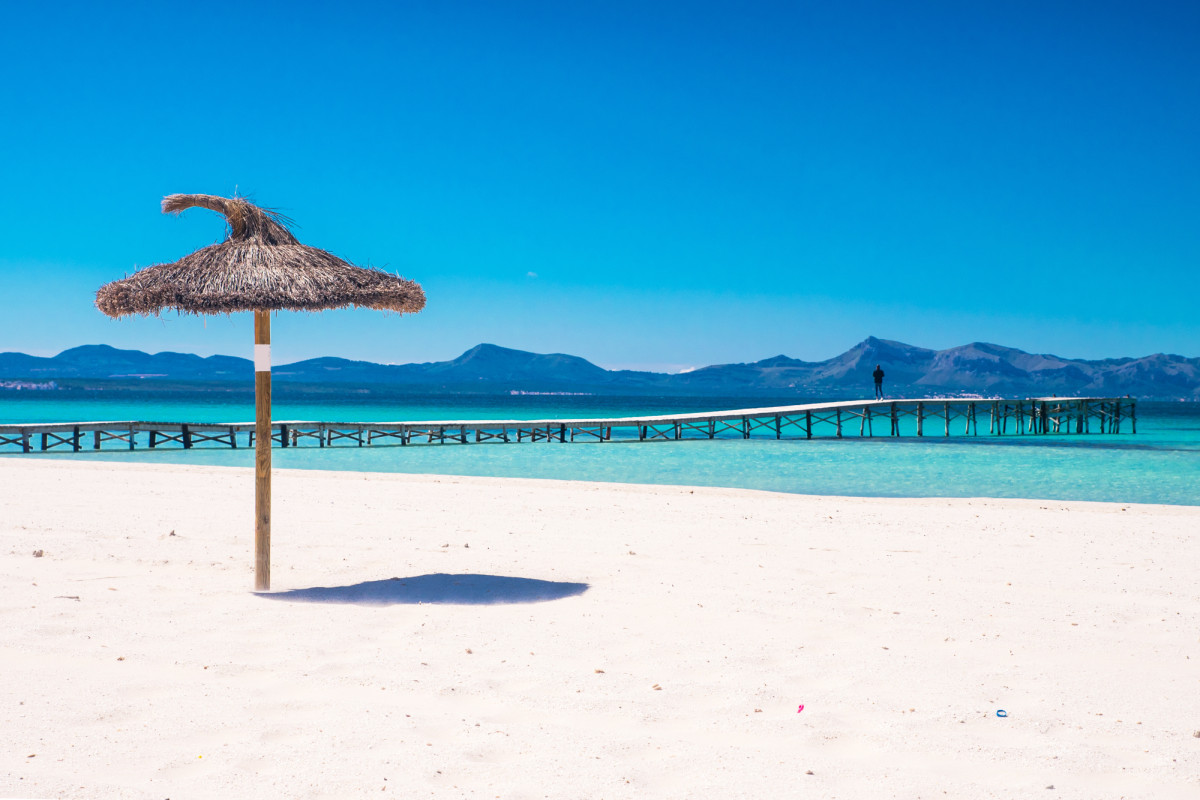
[{"label": "dark oval shadow cast on the white sand by the umbrella", "polygon": [[443,603],[455,606],[492,606],[500,603],[540,603],[582,595],[586,583],[514,578],[503,575],[419,575],[410,578],[364,581],[347,587],[312,587],[262,594],[274,600],[307,603],[359,603],[397,606]]}]

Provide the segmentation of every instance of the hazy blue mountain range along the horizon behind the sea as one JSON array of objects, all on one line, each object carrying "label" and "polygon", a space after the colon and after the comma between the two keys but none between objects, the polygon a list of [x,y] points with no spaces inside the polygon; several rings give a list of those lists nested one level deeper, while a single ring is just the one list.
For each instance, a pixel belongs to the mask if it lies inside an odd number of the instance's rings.
[{"label": "hazy blue mountain range along the horizon behind the sea", "polygon": [[[874,336],[826,361],[778,355],[678,374],[604,369],[574,355],[526,353],[494,344],[476,345],[451,361],[382,365],[324,357],[277,366],[272,374],[276,381],[295,384],[414,391],[859,397],[871,391],[876,363],[883,365],[886,391],[893,397],[1133,395],[1200,401],[1200,359],[1156,354],[1085,361],[980,342],[929,350]],[[104,344],[72,348],[50,359],[0,353],[0,380],[232,383],[248,381],[252,375],[252,361],[226,355],[151,355]]]}]

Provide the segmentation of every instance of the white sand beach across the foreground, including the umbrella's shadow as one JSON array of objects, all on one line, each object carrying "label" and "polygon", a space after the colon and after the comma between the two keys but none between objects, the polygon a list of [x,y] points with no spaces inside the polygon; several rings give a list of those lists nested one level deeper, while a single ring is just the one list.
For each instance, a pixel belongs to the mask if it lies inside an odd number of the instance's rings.
[{"label": "white sand beach across the foreground, including the umbrella's shadow", "polygon": [[280,471],[270,596],[252,509],[0,458],[0,798],[1200,796],[1200,509]]}]

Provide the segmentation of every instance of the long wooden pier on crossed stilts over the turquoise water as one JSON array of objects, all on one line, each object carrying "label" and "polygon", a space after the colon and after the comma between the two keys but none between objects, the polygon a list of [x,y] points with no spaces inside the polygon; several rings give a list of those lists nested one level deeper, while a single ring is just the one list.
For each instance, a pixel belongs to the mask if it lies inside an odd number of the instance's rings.
[{"label": "long wooden pier on crossed stilts over the turquoise water", "polygon": [[[656,439],[815,439],[828,437],[950,437],[1138,432],[1132,397],[964,399],[929,397],[842,401],[774,408],[593,420],[454,420],[414,422],[276,421],[280,447],[376,444],[526,441],[652,441]],[[980,423],[983,428],[980,429]],[[175,445],[253,446],[254,423],[47,422],[0,425],[0,452],[55,449],[154,450]],[[107,446],[106,446],[107,445]]]}]

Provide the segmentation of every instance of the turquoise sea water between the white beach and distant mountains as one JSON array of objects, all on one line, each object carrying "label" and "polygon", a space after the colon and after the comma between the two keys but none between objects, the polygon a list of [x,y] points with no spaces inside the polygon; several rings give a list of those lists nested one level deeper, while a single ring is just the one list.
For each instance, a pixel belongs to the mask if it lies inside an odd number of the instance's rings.
[{"label": "turquoise sea water between the white beach and distant mountains", "polygon": [[[630,416],[794,404],[790,398],[302,395],[276,420],[395,421]],[[0,422],[241,422],[251,392],[0,392]],[[955,422],[960,428],[961,422]],[[882,427],[882,426],[881,426]],[[986,420],[980,417],[980,427]],[[1128,429],[1127,427],[1122,428]],[[857,434],[857,427],[853,432]],[[1001,438],[761,439],[276,449],[277,468],[722,486],[863,497],[994,497],[1200,505],[1200,404],[1138,404],[1138,433]],[[115,444],[115,443],[114,443]],[[0,447],[0,455],[12,453]],[[12,455],[248,467],[242,446]]]}]

